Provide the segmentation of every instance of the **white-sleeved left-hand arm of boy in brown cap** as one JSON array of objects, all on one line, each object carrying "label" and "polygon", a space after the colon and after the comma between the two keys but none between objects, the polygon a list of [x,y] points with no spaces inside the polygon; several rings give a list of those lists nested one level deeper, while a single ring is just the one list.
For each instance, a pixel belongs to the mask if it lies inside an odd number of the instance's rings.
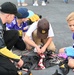
[{"label": "white-sleeved left-hand arm of boy in brown cap", "polygon": [[29,44],[29,45],[31,45],[31,46],[33,46],[33,47],[35,47],[37,50],[38,50],[38,53],[40,53],[40,48],[38,47],[38,45],[32,40],[32,32],[35,30],[37,28],[37,22],[34,22],[30,27],[29,27],[29,29],[28,29],[28,31],[26,32],[26,34],[25,34],[25,37],[23,38],[24,39],[24,41],[27,43],[27,44]]}]

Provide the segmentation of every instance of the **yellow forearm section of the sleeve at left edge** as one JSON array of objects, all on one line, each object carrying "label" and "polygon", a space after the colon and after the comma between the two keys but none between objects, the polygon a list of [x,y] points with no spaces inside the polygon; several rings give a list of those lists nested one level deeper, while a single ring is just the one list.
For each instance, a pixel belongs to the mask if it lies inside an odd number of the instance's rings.
[{"label": "yellow forearm section of the sleeve at left edge", "polygon": [[19,60],[20,59],[20,56],[12,53],[6,47],[0,49],[0,55],[6,56],[6,57],[8,57],[10,59],[15,59],[15,60]]}]

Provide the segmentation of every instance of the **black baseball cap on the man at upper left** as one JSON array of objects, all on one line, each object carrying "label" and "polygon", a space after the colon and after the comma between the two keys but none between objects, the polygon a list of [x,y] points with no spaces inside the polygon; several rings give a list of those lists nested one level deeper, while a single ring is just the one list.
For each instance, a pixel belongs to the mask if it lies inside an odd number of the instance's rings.
[{"label": "black baseball cap on the man at upper left", "polygon": [[14,14],[15,16],[21,16],[20,13],[17,12],[17,7],[15,4],[11,2],[5,2],[0,6],[0,11],[4,13]]}]

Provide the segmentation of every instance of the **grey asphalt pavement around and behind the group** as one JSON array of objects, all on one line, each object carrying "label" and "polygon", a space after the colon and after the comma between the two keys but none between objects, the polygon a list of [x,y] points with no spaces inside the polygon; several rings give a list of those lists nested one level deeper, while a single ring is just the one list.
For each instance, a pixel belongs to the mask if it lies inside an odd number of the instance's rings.
[{"label": "grey asphalt pavement around and behind the group", "polygon": [[[6,1],[10,0],[1,0],[0,4]],[[11,2],[17,5],[17,0],[11,0]],[[74,0],[68,0],[67,4],[63,0],[49,0],[49,4],[46,6],[41,6],[41,1],[39,1],[39,6],[37,7],[32,6],[33,0],[26,0],[26,2],[28,3],[26,8],[41,14],[43,18],[47,18],[51,23],[55,34],[53,41],[56,45],[56,52],[62,47],[72,46],[72,33],[67,25],[66,17],[74,11]],[[52,75],[56,69],[58,69],[58,66],[49,67],[45,70],[32,70],[32,73],[33,75]],[[73,75],[73,71],[70,70],[67,75]]]}]

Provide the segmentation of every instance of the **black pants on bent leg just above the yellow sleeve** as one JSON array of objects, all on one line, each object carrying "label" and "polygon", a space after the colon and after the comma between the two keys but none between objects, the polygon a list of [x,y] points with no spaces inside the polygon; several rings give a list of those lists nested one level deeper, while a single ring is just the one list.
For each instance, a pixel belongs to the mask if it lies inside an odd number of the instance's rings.
[{"label": "black pants on bent leg just above the yellow sleeve", "polygon": [[4,40],[7,48],[10,50],[14,46],[19,50],[25,50],[26,45],[22,38],[19,37],[17,30],[4,31]]}]

